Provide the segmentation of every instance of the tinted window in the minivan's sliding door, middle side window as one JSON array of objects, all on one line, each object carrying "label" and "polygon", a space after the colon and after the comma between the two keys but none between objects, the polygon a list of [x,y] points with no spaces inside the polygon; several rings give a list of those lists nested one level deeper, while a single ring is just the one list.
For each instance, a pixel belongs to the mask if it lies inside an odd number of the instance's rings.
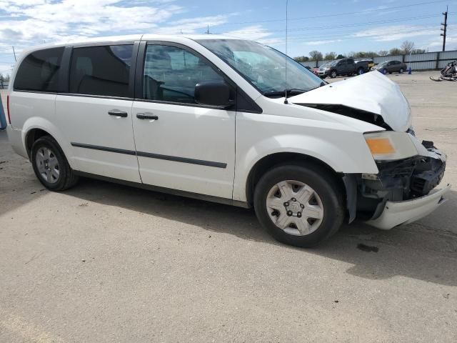
[{"label": "tinted window in the minivan's sliding door, middle side window", "polygon": [[129,97],[133,49],[133,44],[74,48],[70,93]]}]

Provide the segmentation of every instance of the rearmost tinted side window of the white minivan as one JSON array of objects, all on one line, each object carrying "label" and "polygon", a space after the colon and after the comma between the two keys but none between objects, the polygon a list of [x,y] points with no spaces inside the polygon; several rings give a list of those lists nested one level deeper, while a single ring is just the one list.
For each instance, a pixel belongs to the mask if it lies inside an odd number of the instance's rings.
[{"label": "rearmost tinted side window of the white minivan", "polygon": [[26,56],[14,80],[14,89],[24,91],[59,91],[59,75],[64,48],[34,51]]}]

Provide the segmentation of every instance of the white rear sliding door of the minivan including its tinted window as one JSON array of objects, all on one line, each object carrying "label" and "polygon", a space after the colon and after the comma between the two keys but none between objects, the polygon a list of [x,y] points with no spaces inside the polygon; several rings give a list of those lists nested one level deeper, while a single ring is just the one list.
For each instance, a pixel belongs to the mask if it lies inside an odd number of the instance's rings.
[{"label": "white rear sliding door of the minivan including its tinted window", "polygon": [[80,172],[141,182],[129,88],[133,51],[134,44],[73,49],[69,93],[56,97],[54,124],[69,140],[69,159]]}]

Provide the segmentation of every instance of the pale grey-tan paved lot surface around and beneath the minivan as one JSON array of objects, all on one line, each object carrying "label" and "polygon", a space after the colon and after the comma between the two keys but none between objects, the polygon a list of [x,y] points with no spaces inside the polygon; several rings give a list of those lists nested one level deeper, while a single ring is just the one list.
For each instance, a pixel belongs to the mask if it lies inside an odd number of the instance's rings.
[{"label": "pale grey-tan paved lot surface around and beneath the minivan", "polygon": [[[429,74],[389,77],[457,184],[457,83]],[[246,209],[89,179],[48,192],[0,132],[0,342],[457,342],[456,222],[451,191],[417,223],[297,249]]]}]

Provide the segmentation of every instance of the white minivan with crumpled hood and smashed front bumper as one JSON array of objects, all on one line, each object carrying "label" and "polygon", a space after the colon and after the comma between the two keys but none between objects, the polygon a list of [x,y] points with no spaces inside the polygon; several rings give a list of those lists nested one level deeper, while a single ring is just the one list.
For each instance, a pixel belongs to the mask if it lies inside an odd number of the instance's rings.
[{"label": "white minivan with crumpled hood and smashed front bumper", "polygon": [[25,51],[8,136],[53,191],[79,176],[253,207],[311,247],[343,222],[391,229],[432,212],[446,155],[420,141],[380,73],[326,84],[271,47],[138,35]]}]

